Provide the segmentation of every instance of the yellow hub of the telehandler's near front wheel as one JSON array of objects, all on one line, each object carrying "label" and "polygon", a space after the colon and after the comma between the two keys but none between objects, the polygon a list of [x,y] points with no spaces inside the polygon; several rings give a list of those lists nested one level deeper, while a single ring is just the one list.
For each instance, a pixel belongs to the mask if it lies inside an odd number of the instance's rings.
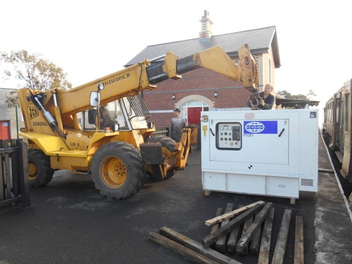
[{"label": "yellow hub of the telehandler's near front wheel", "polygon": [[127,178],[125,164],[117,157],[108,157],[101,164],[100,175],[110,188],[120,188]]}]

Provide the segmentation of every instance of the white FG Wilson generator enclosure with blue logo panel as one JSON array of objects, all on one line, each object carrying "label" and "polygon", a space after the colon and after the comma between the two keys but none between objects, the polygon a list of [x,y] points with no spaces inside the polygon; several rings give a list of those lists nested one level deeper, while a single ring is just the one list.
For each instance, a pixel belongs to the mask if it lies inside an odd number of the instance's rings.
[{"label": "white FG Wilson generator enclosure with blue logo panel", "polygon": [[200,125],[203,190],[318,191],[318,110],[205,111]]}]

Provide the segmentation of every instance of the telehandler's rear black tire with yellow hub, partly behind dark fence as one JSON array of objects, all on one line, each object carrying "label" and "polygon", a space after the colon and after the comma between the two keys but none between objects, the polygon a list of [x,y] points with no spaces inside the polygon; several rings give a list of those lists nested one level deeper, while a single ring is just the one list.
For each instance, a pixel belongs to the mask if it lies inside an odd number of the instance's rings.
[{"label": "telehandler's rear black tire with yellow hub, partly behind dark fence", "polygon": [[54,170],[50,167],[50,158],[41,150],[28,150],[28,175],[30,187],[42,187],[50,182]]}]

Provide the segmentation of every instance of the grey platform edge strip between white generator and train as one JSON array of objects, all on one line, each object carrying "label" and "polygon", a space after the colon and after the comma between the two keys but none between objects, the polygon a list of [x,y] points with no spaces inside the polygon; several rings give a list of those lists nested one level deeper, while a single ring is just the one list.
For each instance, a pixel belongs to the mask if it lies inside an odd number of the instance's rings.
[{"label": "grey platform edge strip between white generator and train", "polygon": [[351,263],[352,214],[320,133],[318,178],[314,212],[315,263]]}]

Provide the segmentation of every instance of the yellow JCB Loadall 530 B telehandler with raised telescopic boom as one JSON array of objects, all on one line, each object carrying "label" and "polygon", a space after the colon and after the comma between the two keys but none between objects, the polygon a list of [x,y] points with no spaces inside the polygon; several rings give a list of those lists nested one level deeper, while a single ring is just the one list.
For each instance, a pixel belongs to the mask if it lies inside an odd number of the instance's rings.
[{"label": "yellow JCB Loadall 530 B telehandler with raised telescopic boom", "polygon": [[[146,121],[150,113],[139,93],[198,67],[258,90],[257,66],[247,44],[239,50],[238,64],[216,46],[182,59],[168,52],[67,91],[19,89],[25,123],[19,135],[29,144],[30,185],[46,185],[55,170],[91,172],[102,195],[124,199],[142,188],[146,173],[163,180],[184,169],[194,140],[191,129],[183,130],[179,143],[150,137],[155,129]],[[107,103],[113,115],[110,123],[101,124],[99,109]]]}]

